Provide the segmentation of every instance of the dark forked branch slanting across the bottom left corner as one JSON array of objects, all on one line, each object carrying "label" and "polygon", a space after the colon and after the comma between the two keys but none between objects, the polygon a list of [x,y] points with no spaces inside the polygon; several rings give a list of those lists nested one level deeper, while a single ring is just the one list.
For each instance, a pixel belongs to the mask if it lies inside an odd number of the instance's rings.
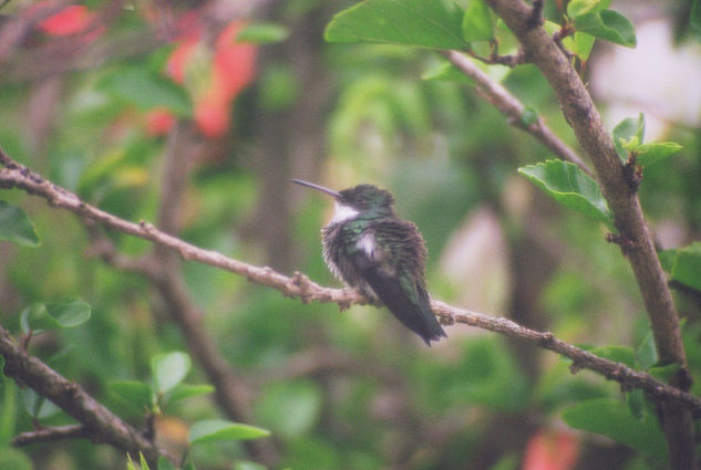
[{"label": "dark forked branch slanting across the bottom left corner", "polygon": [[[19,384],[25,385],[53,401],[68,415],[81,422],[81,437],[94,442],[105,442],[117,449],[137,455],[142,452],[148,462],[157,462],[161,456],[175,462],[173,456],[166,455],[136,429],[125,424],[107,408],[95,401],[80,385],[70,382],[48,365],[30,356],[10,338],[9,333],[0,326],[0,354],[4,357],[4,375]],[[63,430],[63,436],[76,437],[78,430]],[[52,432],[35,431],[30,436],[18,437],[19,443],[28,440],[48,440]],[[54,436],[61,435],[55,431]]]}]

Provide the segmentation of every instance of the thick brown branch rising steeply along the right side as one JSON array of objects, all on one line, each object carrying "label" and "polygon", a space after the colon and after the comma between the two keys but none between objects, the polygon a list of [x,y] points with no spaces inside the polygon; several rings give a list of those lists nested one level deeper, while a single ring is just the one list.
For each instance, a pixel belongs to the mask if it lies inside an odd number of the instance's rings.
[{"label": "thick brown branch rising steeply along the right side", "polygon": [[[591,96],[569,59],[553,38],[534,22],[533,9],[522,0],[487,0],[520,42],[528,60],[555,91],[567,122],[594,163],[601,191],[614,212],[616,227],[626,241],[627,255],[636,275],[659,358],[681,367],[670,382],[682,390],[691,386],[681,342],[679,317],[646,224],[640,200],[623,176],[614,142],[606,132]],[[688,411],[673,405],[660,408],[660,425],[667,436],[672,469],[694,466],[693,422]]]}]

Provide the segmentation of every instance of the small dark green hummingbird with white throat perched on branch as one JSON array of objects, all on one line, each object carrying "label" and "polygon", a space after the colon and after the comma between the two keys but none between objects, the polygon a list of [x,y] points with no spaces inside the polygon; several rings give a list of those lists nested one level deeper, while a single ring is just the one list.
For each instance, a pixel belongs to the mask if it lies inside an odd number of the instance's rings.
[{"label": "small dark green hummingbird with white throat perched on branch", "polygon": [[292,181],[333,197],[336,212],[321,229],[329,270],[367,297],[382,301],[429,346],[447,337],[426,292],[423,238],[413,222],[396,216],[390,191],[374,185],[334,191],[301,179]]}]

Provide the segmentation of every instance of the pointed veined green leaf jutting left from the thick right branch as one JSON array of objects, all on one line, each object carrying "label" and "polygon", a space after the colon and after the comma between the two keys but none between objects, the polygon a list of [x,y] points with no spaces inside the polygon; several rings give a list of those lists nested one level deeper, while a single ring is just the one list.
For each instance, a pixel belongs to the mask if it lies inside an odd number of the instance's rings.
[{"label": "pointed veined green leaf jutting left from the thick right branch", "polygon": [[600,220],[610,230],[616,230],[614,216],[601,195],[599,185],[576,165],[561,160],[547,160],[520,167],[518,173],[564,206]]}]

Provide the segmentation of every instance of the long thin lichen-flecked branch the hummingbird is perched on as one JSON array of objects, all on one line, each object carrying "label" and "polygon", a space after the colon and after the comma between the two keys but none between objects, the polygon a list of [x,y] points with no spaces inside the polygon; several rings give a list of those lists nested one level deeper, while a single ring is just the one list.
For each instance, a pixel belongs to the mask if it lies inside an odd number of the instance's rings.
[{"label": "long thin lichen-flecked branch the hummingbird is perched on", "polygon": [[[249,281],[276,289],[286,296],[299,297],[303,303],[332,302],[341,310],[353,304],[371,304],[361,293],[348,289],[323,288],[296,272],[291,278],[285,276],[270,268],[259,268],[225,257],[212,250],[204,250],[190,243],[168,236],[153,226],[141,222],[133,223],[90,206],[78,196],[52,184],[40,175],[29,170],[10,159],[0,150],[0,164],[6,168],[0,170],[0,187],[20,188],[31,195],[45,199],[50,206],[66,209],[86,220],[97,221],[107,228],[150,240],[159,247],[168,248],[179,253],[186,260],[199,261],[226,271],[246,276]],[[573,372],[583,368],[594,370],[608,379],[621,384],[625,390],[631,388],[643,389],[658,404],[676,404],[697,416],[701,416],[701,398],[687,391],[669,386],[649,374],[637,372],[623,364],[596,356],[584,349],[561,342],[549,332],[537,332],[523,327],[511,320],[493,317],[482,313],[450,306],[440,301],[432,301],[436,315],[446,324],[462,323],[488,330],[506,336],[517,337],[539,347],[553,351],[573,359]]]}]

